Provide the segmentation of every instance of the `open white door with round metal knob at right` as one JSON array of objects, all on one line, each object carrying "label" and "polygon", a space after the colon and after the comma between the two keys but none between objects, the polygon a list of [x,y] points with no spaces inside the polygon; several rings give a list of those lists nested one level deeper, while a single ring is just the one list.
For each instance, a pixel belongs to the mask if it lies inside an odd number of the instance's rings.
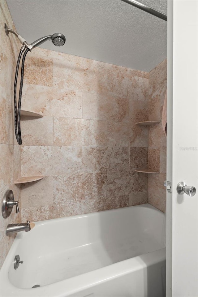
[{"label": "open white door with round metal knob at right", "polygon": [[[198,0],[168,0],[166,296],[198,296]],[[177,184],[196,187],[179,195]]]}]

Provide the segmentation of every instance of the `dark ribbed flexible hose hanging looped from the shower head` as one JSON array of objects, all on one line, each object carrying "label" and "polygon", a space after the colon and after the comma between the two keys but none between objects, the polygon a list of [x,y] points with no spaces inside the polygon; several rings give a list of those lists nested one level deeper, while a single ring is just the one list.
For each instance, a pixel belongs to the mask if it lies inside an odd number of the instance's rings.
[{"label": "dark ribbed flexible hose hanging looped from the shower head", "polygon": [[16,102],[16,86],[17,86],[17,78],[18,78],[18,72],[19,72],[19,64],[20,64],[21,56],[23,54],[22,50],[20,50],[20,52],[19,52],[19,57],[18,57],[17,64],[16,64],[16,72],[15,72],[15,83],[14,83],[15,136],[16,136],[16,140],[19,145],[22,144],[20,112],[21,112],[21,97],[22,97],[23,80],[24,80],[24,63],[25,63],[25,57],[26,57],[28,51],[29,51],[29,49],[25,50],[23,59],[22,59],[22,63],[21,63],[21,82],[20,82],[20,88],[19,88],[18,110],[17,110],[17,102]]}]

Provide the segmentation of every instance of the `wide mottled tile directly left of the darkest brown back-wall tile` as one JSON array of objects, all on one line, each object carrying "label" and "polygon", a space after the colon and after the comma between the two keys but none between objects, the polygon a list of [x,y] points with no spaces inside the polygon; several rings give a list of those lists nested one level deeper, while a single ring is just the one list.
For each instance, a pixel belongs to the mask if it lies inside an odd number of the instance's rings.
[{"label": "wide mottled tile directly left of the darkest brown back-wall tile", "polygon": [[82,172],[129,170],[129,149],[126,147],[83,147]]}]

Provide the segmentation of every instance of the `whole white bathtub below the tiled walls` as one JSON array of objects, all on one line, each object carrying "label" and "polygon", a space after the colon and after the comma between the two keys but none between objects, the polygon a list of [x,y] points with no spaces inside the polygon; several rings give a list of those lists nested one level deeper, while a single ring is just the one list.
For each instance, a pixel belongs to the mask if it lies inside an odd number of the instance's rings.
[{"label": "whole white bathtub below the tiled walls", "polygon": [[0,296],[165,296],[163,224],[149,204],[36,222],[14,240]]}]

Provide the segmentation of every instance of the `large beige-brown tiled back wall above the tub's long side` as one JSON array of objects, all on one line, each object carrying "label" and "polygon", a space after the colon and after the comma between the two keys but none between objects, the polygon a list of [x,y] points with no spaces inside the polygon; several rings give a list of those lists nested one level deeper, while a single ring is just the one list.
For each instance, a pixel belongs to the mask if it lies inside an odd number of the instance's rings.
[{"label": "large beige-brown tiled back wall above the tub's long side", "polygon": [[46,49],[28,53],[22,109],[22,220],[148,201],[149,74]]}]

